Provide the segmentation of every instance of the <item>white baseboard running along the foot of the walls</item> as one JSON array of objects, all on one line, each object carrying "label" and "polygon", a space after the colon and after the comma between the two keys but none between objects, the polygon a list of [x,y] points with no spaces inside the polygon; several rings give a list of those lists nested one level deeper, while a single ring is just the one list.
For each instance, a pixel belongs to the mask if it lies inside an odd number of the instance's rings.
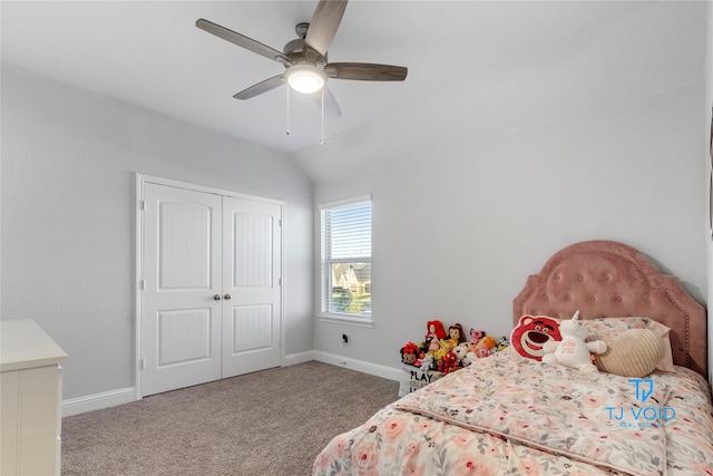
[{"label": "white baseboard running along the foot of the walls", "polygon": [[[310,350],[306,352],[291,353],[285,356],[284,365],[294,366],[297,363],[318,360],[332,366],[344,367],[363,373],[381,377],[389,380],[400,380],[401,369],[380,366],[363,360],[338,356],[335,353]],[[62,401],[62,417],[84,414],[86,411],[100,410],[102,408],[116,407],[117,405],[136,401],[136,388],[121,388],[118,390],[105,391],[102,394],[88,395],[86,397],[70,398]]]}]

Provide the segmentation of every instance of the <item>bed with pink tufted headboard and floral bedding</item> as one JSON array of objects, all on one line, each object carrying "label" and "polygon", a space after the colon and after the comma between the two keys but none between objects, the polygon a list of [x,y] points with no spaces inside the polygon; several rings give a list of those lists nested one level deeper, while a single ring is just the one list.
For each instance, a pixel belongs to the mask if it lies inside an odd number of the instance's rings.
[{"label": "bed with pink tufted headboard and floral bedding", "polygon": [[527,279],[512,324],[577,310],[611,349],[627,326],[666,329],[671,367],[633,378],[498,352],[335,436],[313,475],[713,475],[705,309],[637,250],[587,241]]}]

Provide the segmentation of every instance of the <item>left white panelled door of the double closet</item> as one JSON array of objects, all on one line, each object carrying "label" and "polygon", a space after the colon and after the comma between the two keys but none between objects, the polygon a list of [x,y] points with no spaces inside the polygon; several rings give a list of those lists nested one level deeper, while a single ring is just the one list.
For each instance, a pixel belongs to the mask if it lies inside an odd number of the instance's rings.
[{"label": "left white panelled door of the double closet", "polygon": [[222,197],[144,187],[141,395],[222,377]]}]

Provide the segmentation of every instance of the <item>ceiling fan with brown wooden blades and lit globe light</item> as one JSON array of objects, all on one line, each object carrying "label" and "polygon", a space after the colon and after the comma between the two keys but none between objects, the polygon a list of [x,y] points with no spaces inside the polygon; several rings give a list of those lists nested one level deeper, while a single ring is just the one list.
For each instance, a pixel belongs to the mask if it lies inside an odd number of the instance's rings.
[{"label": "ceiling fan with brown wooden blades and lit globe light", "polygon": [[320,0],[309,23],[295,27],[297,39],[285,45],[280,52],[244,35],[228,30],[212,21],[199,19],[196,27],[247,50],[281,62],[285,71],[243,89],[233,97],[250,99],[282,86],[285,81],[296,91],[311,94],[322,104],[326,115],[336,117],[341,110],[328,79],[365,81],[402,81],[408,68],[371,62],[329,62],[326,50],[342,21],[348,0]]}]

